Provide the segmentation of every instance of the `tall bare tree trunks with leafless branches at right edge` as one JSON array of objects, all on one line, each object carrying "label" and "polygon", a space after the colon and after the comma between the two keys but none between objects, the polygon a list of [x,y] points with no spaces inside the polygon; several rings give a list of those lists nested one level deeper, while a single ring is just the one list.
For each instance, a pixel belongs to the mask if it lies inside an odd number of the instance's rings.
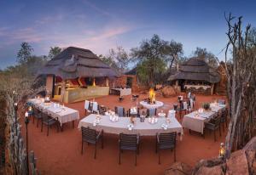
[{"label": "tall bare tree trunks with leafless branches at right edge", "polygon": [[[248,44],[247,25],[242,31],[241,17],[225,15],[229,42],[225,48],[224,72],[227,76],[227,93],[230,105],[230,124],[226,136],[227,155],[241,149],[253,136],[253,116],[256,115],[256,52],[255,45]],[[231,50],[231,59],[228,52]]]}]

